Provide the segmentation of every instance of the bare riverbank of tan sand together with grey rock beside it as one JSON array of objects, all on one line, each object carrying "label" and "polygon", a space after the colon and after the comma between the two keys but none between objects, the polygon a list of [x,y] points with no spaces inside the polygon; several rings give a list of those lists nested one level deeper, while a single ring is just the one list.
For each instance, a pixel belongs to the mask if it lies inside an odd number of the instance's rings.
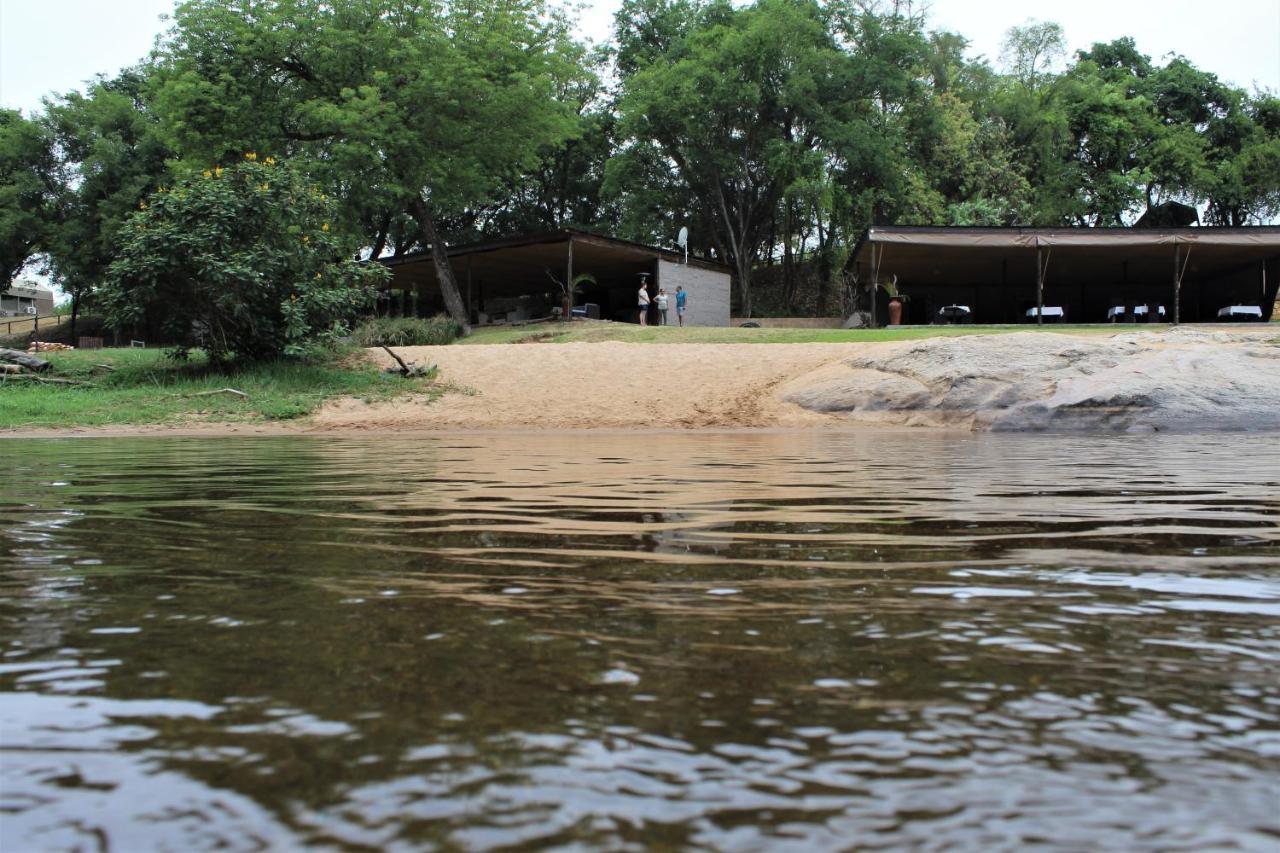
[{"label": "bare riverbank of tan sand together with grey rock beside it", "polygon": [[[895,343],[404,347],[452,391],[311,429],[1280,429],[1280,329]],[[384,364],[385,353],[375,352]]]}]

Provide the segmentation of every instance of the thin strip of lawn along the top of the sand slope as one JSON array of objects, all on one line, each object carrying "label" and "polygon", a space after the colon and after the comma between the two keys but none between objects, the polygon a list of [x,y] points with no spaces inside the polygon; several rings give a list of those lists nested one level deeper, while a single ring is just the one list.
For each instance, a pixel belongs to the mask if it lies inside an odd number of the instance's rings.
[{"label": "thin strip of lawn along the top of the sand slope", "polygon": [[628,343],[856,343],[914,341],[959,334],[1007,334],[1010,332],[1069,332],[1115,334],[1149,332],[1160,325],[918,325],[893,329],[742,329],[737,327],[640,327],[631,323],[540,323],[520,327],[476,329],[462,345],[476,343],[571,343],[626,341]]}]

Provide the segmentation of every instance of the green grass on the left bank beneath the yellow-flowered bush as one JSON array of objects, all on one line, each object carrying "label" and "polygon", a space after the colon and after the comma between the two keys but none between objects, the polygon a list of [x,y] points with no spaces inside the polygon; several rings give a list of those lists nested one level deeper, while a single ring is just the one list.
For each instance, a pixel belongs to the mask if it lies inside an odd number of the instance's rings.
[{"label": "green grass on the left bank beneath the yellow-flowered bush", "polygon": [[[186,364],[165,359],[160,350],[84,350],[41,357],[52,364],[44,377],[91,384],[0,379],[0,429],[289,420],[337,397],[375,402],[408,392],[438,393],[430,378],[384,374],[352,355],[230,371],[211,370],[198,352]],[[219,388],[243,391],[248,398],[192,396]]]}]

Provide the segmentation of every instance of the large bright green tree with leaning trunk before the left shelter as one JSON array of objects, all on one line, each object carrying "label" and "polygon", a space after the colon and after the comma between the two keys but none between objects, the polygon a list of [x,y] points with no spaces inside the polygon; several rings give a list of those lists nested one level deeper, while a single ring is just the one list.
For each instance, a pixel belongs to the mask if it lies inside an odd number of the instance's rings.
[{"label": "large bright green tree with leaning trunk before the left shelter", "polygon": [[186,156],[307,154],[346,229],[379,248],[407,214],[470,329],[436,220],[476,210],[575,136],[581,72],[544,0],[189,0],[161,49],[157,109]]}]

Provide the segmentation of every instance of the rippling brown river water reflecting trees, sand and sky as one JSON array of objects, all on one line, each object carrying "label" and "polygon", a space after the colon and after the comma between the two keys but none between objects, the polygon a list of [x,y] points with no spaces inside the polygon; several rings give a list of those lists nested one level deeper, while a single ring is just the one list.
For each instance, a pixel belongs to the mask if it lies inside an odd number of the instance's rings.
[{"label": "rippling brown river water reflecting trees, sand and sky", "polygon": [[1280,441],[0,443],[0,847],[1280,843]]}]

